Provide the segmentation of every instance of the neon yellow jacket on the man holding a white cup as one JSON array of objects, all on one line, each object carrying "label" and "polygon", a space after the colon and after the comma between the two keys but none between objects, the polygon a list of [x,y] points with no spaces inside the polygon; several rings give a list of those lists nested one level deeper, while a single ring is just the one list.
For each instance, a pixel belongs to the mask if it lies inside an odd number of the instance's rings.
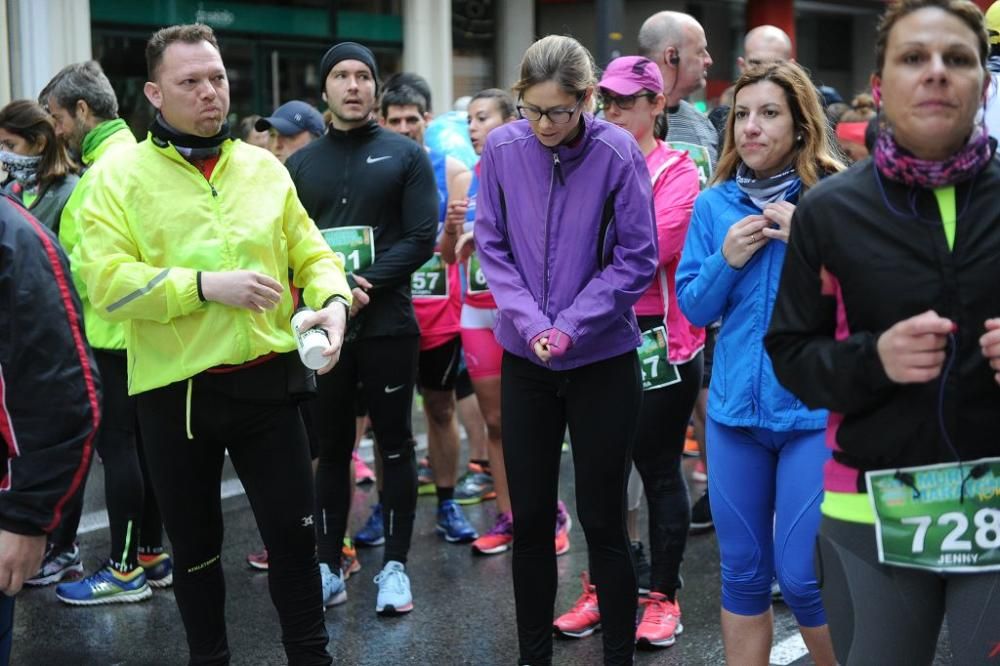
[{"label": "neon yellow jacket on the man holding a white cup", "polygon": [[[270,153],[226,141],[206,180],[158,143],[99,161],[80,210],[78,270],[98,314],[125,322],[131,395],[294,350],[289,269],[310,307],[331,296],[351,301],[343,262]],[[235,270],[280,282],[278,306],[256,312],[201,299],[199,272]]]}]

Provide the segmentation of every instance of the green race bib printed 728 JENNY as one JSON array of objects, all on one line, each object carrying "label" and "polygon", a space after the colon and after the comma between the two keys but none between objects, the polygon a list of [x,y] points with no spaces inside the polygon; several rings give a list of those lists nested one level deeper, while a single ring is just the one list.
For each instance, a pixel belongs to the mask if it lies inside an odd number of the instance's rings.
[{"label": "green race bib printed 728 JENNY", "polygon": [[880,562],[1000,571],[1000,458],[872,471],[865,481]]}]

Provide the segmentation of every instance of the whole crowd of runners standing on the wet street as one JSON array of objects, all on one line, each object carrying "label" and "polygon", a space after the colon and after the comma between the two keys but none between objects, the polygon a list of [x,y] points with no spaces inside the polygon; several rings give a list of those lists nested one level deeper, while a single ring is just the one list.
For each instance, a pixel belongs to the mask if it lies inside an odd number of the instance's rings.
[{"label": "whole crowd of runners standing on the wet street", "polygon": [[[172,586],[190,663],[229,663],[227,455],[291,664],[336,659],[356,547],[383,547],[376,613],[419,612],[423,493],[447,542],[513,551],[521,664],[598,628],[607,664],[673,645],[713,525],[728,663],[768,663],[776,597],[816,664],[930,663],[944,619],[955,663],[1000,661],[1000,2],[891,3],[851,105],[759,26],[702,114],[710,38],[659,12],[598,69],[550,35],[437,120],[422,76],[342,42],[325,115],[230,127],[215,35],[178,25],[146,47],[142,141],[96,62],[0,109],[0,663],[22,585]],[[588,567],[557,615],[565,441]]]}]

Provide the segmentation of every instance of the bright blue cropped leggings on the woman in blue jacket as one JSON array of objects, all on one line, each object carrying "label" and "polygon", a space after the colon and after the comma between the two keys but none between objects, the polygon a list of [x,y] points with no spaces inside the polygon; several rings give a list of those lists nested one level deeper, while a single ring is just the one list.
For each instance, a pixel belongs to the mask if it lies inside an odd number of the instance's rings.
[{"label": "bright blue cropped leggings on the woman in blue jacket", "polygon": [[707,419],[708,488],[722,559],[722,607],[760,615],[777,574],[803,627],[826,624],[813,564],[823,463],[822,430],[775,432]]}]

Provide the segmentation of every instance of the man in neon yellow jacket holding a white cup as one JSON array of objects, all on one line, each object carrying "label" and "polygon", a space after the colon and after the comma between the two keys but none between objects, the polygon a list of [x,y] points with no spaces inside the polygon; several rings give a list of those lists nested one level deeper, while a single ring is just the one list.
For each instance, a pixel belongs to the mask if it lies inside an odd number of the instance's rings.
[{"label": "man in neon yellow jacket holding a white cup", "polygon": [[126,322],[129,393],[174,547],[191,661],[229,661],[219,499],[228,449],[270,553],[288,662],[328,664],[288,272],[316,310],[302,326],[322,326],[331,343],[321,373],[337,361],[351,290],[284,167],[229,139],[211,29],[164,28],[146,61],[158,113],[149,139],[93,168],[79,273],[98,314]]}]

